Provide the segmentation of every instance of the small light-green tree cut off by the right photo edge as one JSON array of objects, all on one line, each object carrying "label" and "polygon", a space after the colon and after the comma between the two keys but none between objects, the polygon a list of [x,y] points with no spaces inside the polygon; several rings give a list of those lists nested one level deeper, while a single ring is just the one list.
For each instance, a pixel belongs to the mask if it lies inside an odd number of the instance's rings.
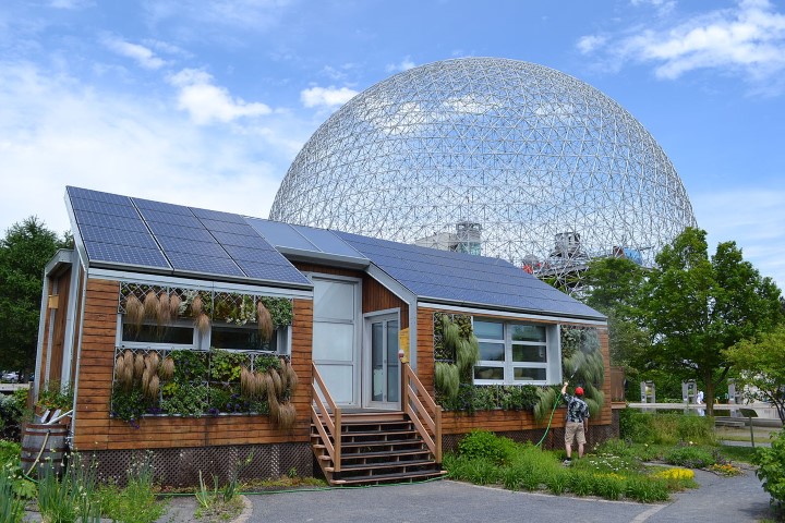
[{"label": "small light-green tree cut off by the right photo edge", "polygon": [[741,340],[724,355],[739,376],[736,382],[747,386],[747,397],[775,405],[785,423],[785,327]]}]

